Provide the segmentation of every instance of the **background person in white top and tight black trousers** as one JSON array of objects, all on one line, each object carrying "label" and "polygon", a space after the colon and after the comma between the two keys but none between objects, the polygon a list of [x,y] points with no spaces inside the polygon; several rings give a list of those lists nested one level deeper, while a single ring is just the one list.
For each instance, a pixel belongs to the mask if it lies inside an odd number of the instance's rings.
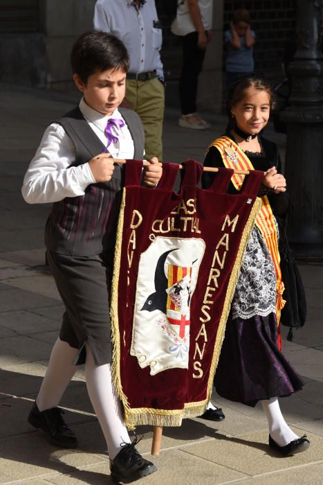
[{"label": "background person in white top and tight black trousers", "polygon": [[172,33],[181,35],[183,64],[179,81],[182,116],[178,124],[194,130],[210,125],[196,112],[199,73],[203,67],[205,49],[211,40],[212,0],[178,0]]}]

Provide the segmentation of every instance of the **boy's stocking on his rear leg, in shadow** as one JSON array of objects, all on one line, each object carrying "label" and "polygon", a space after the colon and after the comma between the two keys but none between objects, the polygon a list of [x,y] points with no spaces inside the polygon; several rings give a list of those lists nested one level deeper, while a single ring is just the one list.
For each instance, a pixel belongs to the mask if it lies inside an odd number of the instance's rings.
[{"label": "boy's stocking on his rear leg, in shadow", "polygon": [[77,366],[72,364],[77,349],[57,339],[50,353],[48,367],[36,399],[39,411],[51,409],[59,404]]}]

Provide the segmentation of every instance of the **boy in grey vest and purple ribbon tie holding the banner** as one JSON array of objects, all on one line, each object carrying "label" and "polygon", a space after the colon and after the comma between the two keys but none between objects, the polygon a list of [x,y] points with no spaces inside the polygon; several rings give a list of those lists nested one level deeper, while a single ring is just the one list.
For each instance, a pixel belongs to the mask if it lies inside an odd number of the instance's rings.
[{"label": "boy in grey vest and purple ribbon tie holding the banner", "polygon": [[[30,204],[53,202],[45,243],[50,270],[66,311],[46,376],[28,416],[57,446],[77,446],[57,407],[77,364],[85,362],[86,387],[109,450],[111,476],[138,479],[156,466],[131,443],[111,379],[109,292],[122,189],[122,168],[110,157],[142,159],[144,132],[139,116],[118,109],[124,98],[129,58],[113,35],[92,30],[71,52],[78,107],[52,123],[24,178]],[[109,153],[107,152],[109,150]],[[154,187],[158,159],[145,168],[143,182]]]}]

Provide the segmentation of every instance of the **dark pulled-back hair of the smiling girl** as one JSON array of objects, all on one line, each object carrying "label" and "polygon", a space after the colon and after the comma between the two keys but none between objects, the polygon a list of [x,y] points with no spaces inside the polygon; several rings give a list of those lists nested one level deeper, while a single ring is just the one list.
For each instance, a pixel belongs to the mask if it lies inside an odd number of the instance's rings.
[{"label": "dark pulled-back hair of the smiling girl", "polygon": [[243,74],[239,76],[237,81],[232,82],[228,89],[228,99],[227,99],[227,112],[228,112],[228,125],[226,131],[231,131],[234,128],[234,118],[232,117],[231,109],[240,103],[245,96],[246,89],[254,87],[258,91],[266,91],[269,96],[270,109],[275,107],[275,92],[270,82],[263,78],[262,76],[257,76],[257,74]]}]

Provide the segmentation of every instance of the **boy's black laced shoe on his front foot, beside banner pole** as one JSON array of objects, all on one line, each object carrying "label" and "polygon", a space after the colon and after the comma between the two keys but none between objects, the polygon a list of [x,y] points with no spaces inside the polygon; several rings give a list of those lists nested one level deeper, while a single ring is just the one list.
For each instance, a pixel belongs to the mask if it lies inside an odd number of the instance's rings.
[{"label": "boy's black laced shoe on his front foot, beside banner pole", "polygon": [[132,443],[122,443],[122,449],[118,452],[118,455],[113,460],[110,459],[113,481],[130,483],[156,472],[156,466],[151,461],[142,458],[136,450],[135,445],[137,443],[137,438]]}]

